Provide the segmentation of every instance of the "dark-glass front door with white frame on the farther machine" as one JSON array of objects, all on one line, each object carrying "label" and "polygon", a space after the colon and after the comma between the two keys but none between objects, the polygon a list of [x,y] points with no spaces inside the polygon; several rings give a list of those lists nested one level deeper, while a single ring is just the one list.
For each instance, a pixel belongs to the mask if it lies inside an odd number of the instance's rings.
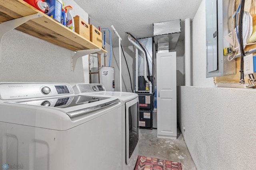
[{"label": "dark-glass front door with white frame on the farther machine", "polygon": [[139,141],[139,103],[138,98],[125,103],[125,122],[126,122],[126,164]]}]

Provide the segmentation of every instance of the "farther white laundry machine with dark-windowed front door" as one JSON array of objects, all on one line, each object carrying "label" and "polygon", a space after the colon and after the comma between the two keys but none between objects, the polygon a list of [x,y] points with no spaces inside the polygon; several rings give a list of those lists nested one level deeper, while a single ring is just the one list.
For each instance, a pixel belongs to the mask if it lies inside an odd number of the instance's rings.
[{"label": "farther white laundry machine with dark-windowed front door", "polygon": [[122,103],[122,170],[134,170],[139,153],[139,100],[136,93],[106,91],[102,84],[77,84],[74,93],[117,97]]}]

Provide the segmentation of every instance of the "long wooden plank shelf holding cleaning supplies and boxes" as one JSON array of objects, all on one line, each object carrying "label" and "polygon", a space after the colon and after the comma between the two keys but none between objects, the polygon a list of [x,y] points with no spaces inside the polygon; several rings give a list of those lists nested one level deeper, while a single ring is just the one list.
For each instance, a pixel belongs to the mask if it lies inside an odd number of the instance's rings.
[{"label": "long wooden plank shelf holding cleaning supplies and boxes", "polygon": [[23,0],[0,1],[0,23],[36,13],[43,16],[29,20],[15,29],[72,51],[100,48],[98,53],[107,52]]}]

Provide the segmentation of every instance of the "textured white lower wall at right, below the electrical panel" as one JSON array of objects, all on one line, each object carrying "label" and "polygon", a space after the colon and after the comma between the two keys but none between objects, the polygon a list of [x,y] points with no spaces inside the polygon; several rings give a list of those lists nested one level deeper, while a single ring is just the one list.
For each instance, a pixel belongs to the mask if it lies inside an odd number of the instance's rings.
[{"label": "textured white lower wall at right, below the electrical panel", "polygon": [[198,170],[255,169],[254,89],[181,86],[177,92],[180,127]]}]

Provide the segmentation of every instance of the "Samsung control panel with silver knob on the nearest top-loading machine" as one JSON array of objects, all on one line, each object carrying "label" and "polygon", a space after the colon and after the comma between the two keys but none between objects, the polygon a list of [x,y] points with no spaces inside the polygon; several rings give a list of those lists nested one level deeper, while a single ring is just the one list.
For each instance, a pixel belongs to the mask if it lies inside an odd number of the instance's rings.
[{"label": "Samsung control panel with silver knob on the nearest top-loading machine", "polygon": [[74,94],[69,84],[0,83],[0,99],[29,99]]}]

